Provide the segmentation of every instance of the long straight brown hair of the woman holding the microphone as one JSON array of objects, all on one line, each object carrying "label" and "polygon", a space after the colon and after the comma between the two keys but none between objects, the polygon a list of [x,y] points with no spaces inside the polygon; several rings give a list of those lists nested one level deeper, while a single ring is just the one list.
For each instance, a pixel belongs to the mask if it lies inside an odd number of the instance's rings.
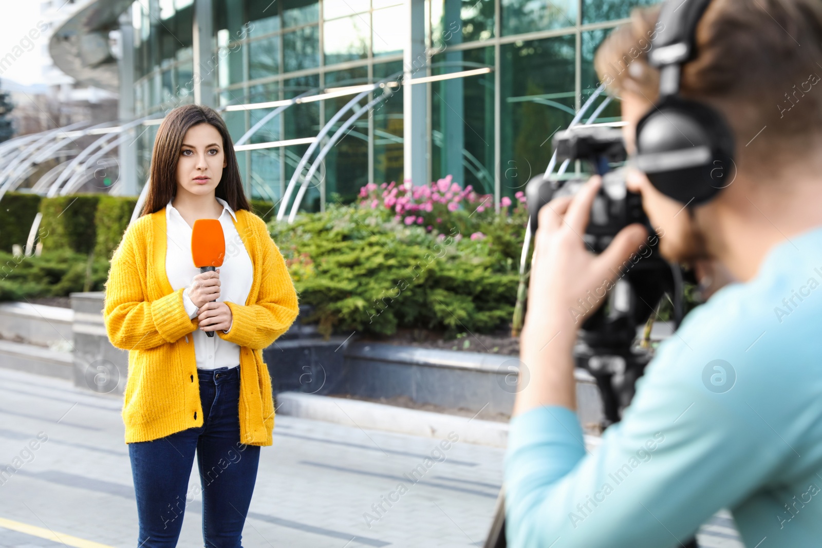
[{"label": "long straight brown hair of the woman holding the microphone", "polygon": [[145,196],[141,216],[162,210],[177,192],[177,163],[180,147],[186,131],[197,124],[207,123],[215,127],[223,137],[223,153],[226,166],[215,188],[215,196],[225,200],[232,210],[251,210],[238,168],[234,144],[223,118],[214,108],[201,104],[185,104],[174,108],[163,118],[157,130],[154,150],[151,152],[150,187]]}]

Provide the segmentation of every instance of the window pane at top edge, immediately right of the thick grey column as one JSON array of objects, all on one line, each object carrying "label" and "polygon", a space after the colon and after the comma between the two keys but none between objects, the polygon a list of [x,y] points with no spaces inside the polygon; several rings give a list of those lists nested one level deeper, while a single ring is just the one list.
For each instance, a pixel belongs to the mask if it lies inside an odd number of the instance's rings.
[{"label": "window pane at top edge, immediately right of the thick grey column", "polygon": [[432,44],[460,44],[494,35],[493,0],[432,0]]}]

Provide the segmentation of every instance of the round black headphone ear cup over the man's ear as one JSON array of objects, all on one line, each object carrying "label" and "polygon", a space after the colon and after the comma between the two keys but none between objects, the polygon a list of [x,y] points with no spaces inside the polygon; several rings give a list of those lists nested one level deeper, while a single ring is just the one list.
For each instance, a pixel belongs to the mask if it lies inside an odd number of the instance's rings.
[{"label": "round black headphone ear cup over the man's ear", "polygon": [[683,204],[707,202],[733,181],[733,147],[722,115],[688,99],[663,99],[636,127],[637,167]]}]

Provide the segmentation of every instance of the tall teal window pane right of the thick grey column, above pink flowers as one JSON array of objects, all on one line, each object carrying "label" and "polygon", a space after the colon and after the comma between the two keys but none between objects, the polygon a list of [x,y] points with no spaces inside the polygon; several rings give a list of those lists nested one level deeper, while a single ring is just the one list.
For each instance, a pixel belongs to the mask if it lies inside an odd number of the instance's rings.
[{"label": "tall teal window pane right of the thick grey column, above pink flowers", "polygon": [[[435,74],[494,66],[493,48],[434,56]],[[468,63],[467,65],[460,63]],[[432,82],[432,177],[494,191],[493,73]]]}]

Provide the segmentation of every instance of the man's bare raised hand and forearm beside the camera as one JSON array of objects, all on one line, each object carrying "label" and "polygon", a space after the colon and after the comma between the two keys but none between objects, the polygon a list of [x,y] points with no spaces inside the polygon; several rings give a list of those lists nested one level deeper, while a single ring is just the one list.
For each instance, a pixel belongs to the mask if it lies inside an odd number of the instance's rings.
[{"label": "man's bare raised hand and forearm beside the camera", "polygon": [[[575,196],[556,198],[539,210],[514,415],[540,405],[576,408],[571,356],[576,330],[603,305],[618,267],[646,237],[641,224],[631,224],[603,253],[593,255],[582,237],[601,181],[601,177],[591,177]],[[578,299],[589,303],[587,310]]]}]

